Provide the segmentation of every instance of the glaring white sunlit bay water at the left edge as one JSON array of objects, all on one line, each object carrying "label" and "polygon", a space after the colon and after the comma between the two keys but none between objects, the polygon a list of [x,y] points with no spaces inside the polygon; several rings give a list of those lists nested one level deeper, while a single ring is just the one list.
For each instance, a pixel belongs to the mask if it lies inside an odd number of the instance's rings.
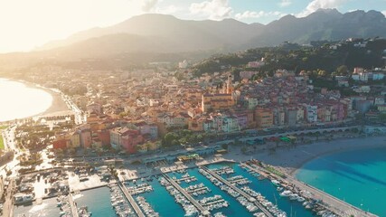
[{"label": "glaring white sunlit bay water at the left edge", "polygon": [[0,78],[0,122],[31,117],[44,112],[51,105],[52,95],[47,91]]}]

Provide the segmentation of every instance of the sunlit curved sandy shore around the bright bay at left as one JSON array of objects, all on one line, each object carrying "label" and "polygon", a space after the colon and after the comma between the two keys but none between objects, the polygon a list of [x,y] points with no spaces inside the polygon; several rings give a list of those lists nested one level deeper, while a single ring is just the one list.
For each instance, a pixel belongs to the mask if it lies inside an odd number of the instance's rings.
[{"label": "sunlit curved sandy shore around the bright bay at left", "polygon": [[[58,113],[58,115],[62,115],[61,113],[72,112],[71,109],[69,109],[67,107],[67,104],[64,101],[64,99],[62,99],[60,92],[53,91],[51,89],[42,87],[39,84],[35,84],[35,83],[27,81],[27,80],[16,80],[16,79],[12,79],[12,78],[1,78],[1,79],[19,82],[19,83],[24,84],[24,86],[26,88],[43,90],[52,96],[52,102],[51,102],[51,105],[49,108],[45,109],[44,111],[42,111],[40,113],[31,115],[31,116],[27,116],[24,118],[36,118],[36,117],[41,117],[41,116],[54,116],[56,113]],[[24,118],[17,118],[17,119],[24,119]],[[14,119],[5,120],[5,121],[1,121],[1,122],[7,122],[7,121],[14,121]]]}]

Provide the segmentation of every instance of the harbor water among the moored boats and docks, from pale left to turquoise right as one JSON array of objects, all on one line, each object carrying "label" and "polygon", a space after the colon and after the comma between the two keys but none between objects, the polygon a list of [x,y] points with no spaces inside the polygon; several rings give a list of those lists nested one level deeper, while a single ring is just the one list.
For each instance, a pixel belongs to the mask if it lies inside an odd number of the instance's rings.
[{"label": "harbor water among the moored boats and docks, from pale left to turquoise right", "polygon": [[[280,192],[277,189],[278,186],[272,184],[270,180],[259,180],[257,176],[249,174],[246,169],[240,167],[238,164],[221,163],[216,165],[207,165],[209,169],[222,168],[223,166],[230,167],[234,173],[221,175],[222,178],[229,179],[231,177],[241,175],[243,178],[246,178],[246,180],[249,181],[247,184],[242,184],[242,186],[249,187],[255,192],[261,193],[270,203],[277,205],[278,209],[286,212],[287,216],[315,216],[314,212],[306,210],[301,202],[298,202],[297,200],[290,200],[285,196],[280,196]],[[221,212],[224,216],[253,216],[254,212],[250,212],[247,207],[242,205],[235,197],[231,196],[229,193],[226,193],[226,191],[221,190],[221,186],[213,184],[210,179],[202,175],[199,170],[199,168],[192,168],[181,171],[181,173],[168,173],[167,176],[171,179],[174,179],[176,182],[183,176],[194,177],[192,182],[178,182],[183,188],[187,188],[195,184],[202,184],[203,186],[207,187],[207,189],[210,189],[210,191],[208,190],[205,193],[193,195],[193,198],[196,201],[218,195],[221,197],[221,200],[223,199],[224,202],[228,203],[227,206],[216,207],[212,209],[210,211],[211,215],[215,215],[216,213]],[[146,191],[144,193],[132,193],[134,199],[138,202],[141,200],[141,197],[145,198],[146,203],[149,203],[151,209],[153,209],[154,212],[157,212],[159,216],[184,216],[185,211],[183,206],[179,203],[176,203],[174,196],[172,196],[166,190],[164,185],[160,184],[159,180],[162,179],[162,177],[162,175],[154,175],[147,178],[137,179],[135,182],[128,181],[126,186],[127,189],[131,189],[130,191],[138,186],[142,186],[142,184],[145,184],[145,186],[151,186],[151,191]],[[239,188],[242,187],[239,184],[237,186]],[[108,187],[100,187],[74,194],[73,198],[75,203],[77,203],[78,208],[87,206],[89,212],[92,212],[92,216],[113,217],[117,215],[115,209],[113,208],[112,202],[110,201],[111,195],[112,194]],[[40,210],[40,212],[32,212],[33,209],[36,209],[36,207],[39,206],[27,206],[22,208],[17,207],[15,209],[15,213],[31,213],[30,215],[26,216],[59,216],[60,210],[58,207],[56,207],[55,198],[44,200],[42,204],[46,205],[43,207],[43,209]],[[141,209],[144,208],[142,207]],[[145,210],[143,210],[143,212],[145,212]]]}]

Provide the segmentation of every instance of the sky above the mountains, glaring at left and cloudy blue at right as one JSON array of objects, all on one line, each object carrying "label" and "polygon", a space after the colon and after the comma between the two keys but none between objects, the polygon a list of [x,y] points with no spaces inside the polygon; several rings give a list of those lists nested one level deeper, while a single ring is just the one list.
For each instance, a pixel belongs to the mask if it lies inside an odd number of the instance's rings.
[{"label": "sky above the mountains, glaring at left and cloudy blue at right", "polygon": [[386,14],[386,0],[0,0],[0,52],[31,51],[45,42],[139,14],[268,24],[287,14],[303,17],[318,8]]}]

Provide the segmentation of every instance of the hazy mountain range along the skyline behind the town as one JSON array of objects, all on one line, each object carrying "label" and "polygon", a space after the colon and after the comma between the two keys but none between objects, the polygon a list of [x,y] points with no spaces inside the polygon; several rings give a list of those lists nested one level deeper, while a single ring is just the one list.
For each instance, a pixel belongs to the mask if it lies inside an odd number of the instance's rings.
[{"label": "hazy mountain range along the skyline behind the town", "polygon": [[67,55],[108,55],[119,52],[235,51],[278,45],[309,43],[350,37],[386,37],[386,18],[377,11],[346,14],[320,9],[304,18],[287,15],[270,24],[244,24],[234,19],[180,20],[172,15],[143,14],[107,28],[76,33],[66,40],[49,42],[39,50]]}]

